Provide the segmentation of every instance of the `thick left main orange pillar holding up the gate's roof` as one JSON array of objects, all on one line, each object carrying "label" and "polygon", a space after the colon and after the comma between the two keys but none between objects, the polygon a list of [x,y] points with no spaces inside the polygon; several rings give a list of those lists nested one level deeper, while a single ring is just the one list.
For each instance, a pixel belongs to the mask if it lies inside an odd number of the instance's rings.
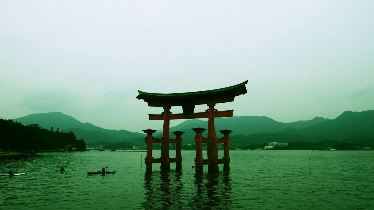
[{"label": "thick left main orange pillar holding up the gate's roof", "polygon": [[163,130],[162,130],[162,138],[163,143],[161,145],[161,166],[160,169],[170,169],[170,159],[169,159],[169,110],[170,106],[164,106],[164,123],[163,123]]}]

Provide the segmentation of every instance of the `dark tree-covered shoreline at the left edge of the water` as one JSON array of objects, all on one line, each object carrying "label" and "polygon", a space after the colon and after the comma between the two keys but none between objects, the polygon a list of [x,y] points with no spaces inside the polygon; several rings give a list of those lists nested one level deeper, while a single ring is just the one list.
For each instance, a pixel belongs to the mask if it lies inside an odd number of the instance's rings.
[{"label": "dark tree-covered shoreline at the left edge of the water", "polygon": [[38,124],[27,126],[13,120],[0,117],[0,151],[39,151],[55,149],[84,150],[86,143],[77,140],[73,132],[60,132],[51,127],[50,130],[41,128]]}]

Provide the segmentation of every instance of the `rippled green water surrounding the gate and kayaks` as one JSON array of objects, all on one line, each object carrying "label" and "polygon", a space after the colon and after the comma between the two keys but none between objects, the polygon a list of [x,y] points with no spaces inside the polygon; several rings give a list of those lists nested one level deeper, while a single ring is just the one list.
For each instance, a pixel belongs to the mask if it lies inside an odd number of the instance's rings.
[{"label": "rippled green water surrounding the gate and kayaks", "polygon": [[[183,169],[172,163],[168,173],[160,164],[145,172],[140,155],[0,157],[1,173],[28,172],[0,177],[0,209],[374,209],[374,151],[230,151],[229,173],[220,164],[220,172],[204,166],[201,174],[191,167],[194,151],[182,151]],[[55,172],[62,165],[66,171]],[[105,166],[117,174],[86,173]]]}]

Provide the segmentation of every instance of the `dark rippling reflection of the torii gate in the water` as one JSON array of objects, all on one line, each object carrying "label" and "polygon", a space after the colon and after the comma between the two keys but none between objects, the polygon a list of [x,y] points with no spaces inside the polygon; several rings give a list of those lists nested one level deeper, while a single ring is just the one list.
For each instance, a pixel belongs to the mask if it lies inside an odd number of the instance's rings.
[{"label": "dark rippling reflection of the torii gate in the water", "polygon": [[146,171],[144,209],[231,209],[230,172],[196,173],[188,191],[182,177],[183,170]]}]

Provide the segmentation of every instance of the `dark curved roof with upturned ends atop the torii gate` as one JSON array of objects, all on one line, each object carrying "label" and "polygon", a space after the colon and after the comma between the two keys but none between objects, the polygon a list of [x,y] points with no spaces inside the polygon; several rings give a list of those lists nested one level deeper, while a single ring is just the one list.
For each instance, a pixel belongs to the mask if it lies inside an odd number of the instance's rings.
[{"label": "dark curved roof with upturned ends atop the torii gate", "polygon": [[137,99],[143,99],[148,106],[181,106],[183,104],[199,105],[209,103],[226,103],[234,101],[235,96],[247,93],[245,85],[248,80],[230,87],[187,93],[147,93],[138,90]]}]

